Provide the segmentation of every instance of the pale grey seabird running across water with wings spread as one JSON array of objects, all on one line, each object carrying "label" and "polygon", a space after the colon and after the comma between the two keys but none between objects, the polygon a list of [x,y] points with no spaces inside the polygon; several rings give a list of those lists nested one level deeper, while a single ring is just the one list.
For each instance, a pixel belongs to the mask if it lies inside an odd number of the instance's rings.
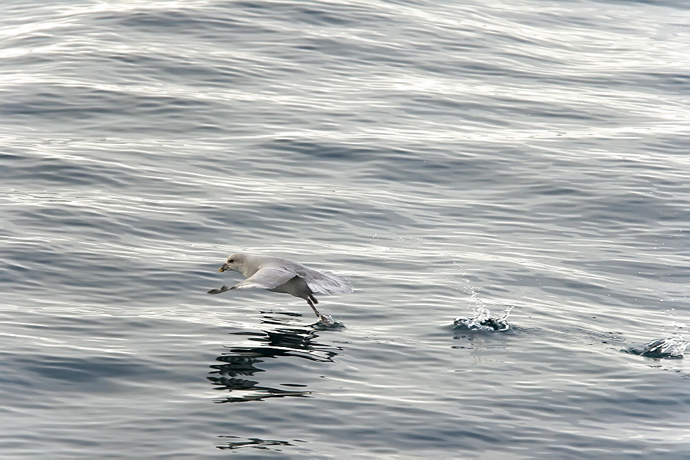
[{"label": "pale grey seabird running across water with wings spread", "polygon": [[306,300],[316,316],[325,324],[333,320],[329,320],[316,309],[315,304],[319,301],[314,294],[349,294],[354,291],[350,281],[342,275],[313,270],[292,260],[271,255],[235,253],[218,269],[221,272],[226,270],[242,273],[246,280],[234,286],[211,289],[208,291],[209,294],[224,293],[230,289],[259,288],[294,295]]}]

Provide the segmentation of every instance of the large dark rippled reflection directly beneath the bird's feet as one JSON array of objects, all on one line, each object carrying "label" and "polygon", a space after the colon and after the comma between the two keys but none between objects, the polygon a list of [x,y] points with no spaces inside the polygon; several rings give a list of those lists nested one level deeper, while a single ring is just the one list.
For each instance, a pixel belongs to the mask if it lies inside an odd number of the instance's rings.
[{"label": "large dark rippled reflection directly beneath the bird's feet", "polygon": [[[283,384],[290,388],[273,388],[261,386],[257,374],[266,372],[260,368],[267,359],[284,359],[299,357],[313,362],[333,362],[339,353],[339,348],[319,344],[315,339],[319,337],[316,331],[304,328],[276,328],[272,331],[239,332],[233,335],[246,336],[249,341],[260,342],[256,346],[230,346],[228,353],[216,358],[222,364],[210,366],[215,369],[207,377],[217,387],[216,390],[226,390],[231,395],[215,401],[246,402],[262,401],[273,397],[306,397],[311,391],[301,384]],[[251,377],[251,378],[250,378]]]}]

